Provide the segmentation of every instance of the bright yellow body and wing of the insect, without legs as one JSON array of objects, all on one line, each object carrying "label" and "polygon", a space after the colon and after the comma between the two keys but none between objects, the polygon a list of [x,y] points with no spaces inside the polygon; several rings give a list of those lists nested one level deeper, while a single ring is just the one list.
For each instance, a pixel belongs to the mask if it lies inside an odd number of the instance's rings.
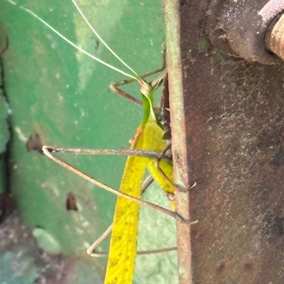
[{"label": "bright yellow body and wing of the insect, without legs", "polygon": [[[163,152],[167,142],[163,140],[163,130],[160,129],[155,119],[148,114],[136,131],[136,136],[131,143],[131,149]],[[166,180],[155,166],[153,158],[131,156],[127,158],[124,175],[121,180],[120,191],[133,197],[141,197],[143,176],[146,168],[156,182],[166,193],[173,193],[173,165],[165,160],[159,164]],[[173,208],[174,203],[171,202]],[[136,244],[138,235],[139,204],[118,197],[114,215],[114,225],[111,233],[109,261],[104,284],[131,284],[133,280]]]}]

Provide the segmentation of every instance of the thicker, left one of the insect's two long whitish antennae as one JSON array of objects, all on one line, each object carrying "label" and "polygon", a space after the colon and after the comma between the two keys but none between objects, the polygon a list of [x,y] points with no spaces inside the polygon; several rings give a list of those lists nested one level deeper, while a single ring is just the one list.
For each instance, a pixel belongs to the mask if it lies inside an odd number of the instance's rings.
[{"label": "thicker, left one of the insect's two long whitish antennae", "polygon": [[[84,53],[85,55],[89,56],[90,58],[96,60],[97,62],[100,62],[102,63],[103,65],[111,68],[112,70],[115,70],[116,72],[119,72],[121,74],[123,74],[124,76],[127,76],[127,77],[130,77],[134,80],[137,80],[136,77],[134,77],[133,75],[130,75],[112,65],[110,65],[109,63],[107,62],[104,62],[103,60],[100,60],[99,58],[96,58],[94,55],[90,54],[90,53],[87,53],[87,51],[83,50],[82,48],[80,48],[80,46],[78,45],[75,45],[75,43],[72,43],[71,40],[68,40],[68,38],[65,38],[64,35],[62,35],[61,33],[59,33],[58,31],[55,30],[55,28],[53,28],[52,26],[50,26],[50,24],[48,24],[47,22],[45,22],[42,18],[40,18],[38,15],[36,15],[35,13],[33,13],[33,11],[29,10],[29,9],[26,9],[25,7],[23,6],[20,6],[21,9],[25,10],[26,12],[30,13],[32,16],[34,16],[35,18],[37,18],[39,21],[41,21],[42,23],[45,24],[45,26],[47,26],[48,28],[50,28],[51,31],[53,31],[54,33],[56,33],[57,35],[60,36],[60,38],[62,38],[63,40],[65,40],[67,43],[69,43],[70,45],[72,45],[74,48],[77,48],[77,50],[80,50],[81,53]],[[134,73],[135,74],[135,73]]]}]

